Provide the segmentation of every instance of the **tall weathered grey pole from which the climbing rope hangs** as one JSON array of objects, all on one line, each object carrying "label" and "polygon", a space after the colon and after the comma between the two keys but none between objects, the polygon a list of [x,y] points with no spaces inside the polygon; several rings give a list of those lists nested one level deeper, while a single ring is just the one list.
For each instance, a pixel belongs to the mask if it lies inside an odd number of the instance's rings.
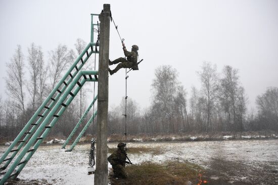
[{"label": "tall weathered grey pole from which the climbing rope hangs", "polygon": [[98,79],[98,121],[97,121],[97,163],[95,184],[108,184],[107,162],[107,116],[108,116],[108,67],[109,67],[109,33],[110,5],[104,4],[99,15],[100,25],[100,54]]}]

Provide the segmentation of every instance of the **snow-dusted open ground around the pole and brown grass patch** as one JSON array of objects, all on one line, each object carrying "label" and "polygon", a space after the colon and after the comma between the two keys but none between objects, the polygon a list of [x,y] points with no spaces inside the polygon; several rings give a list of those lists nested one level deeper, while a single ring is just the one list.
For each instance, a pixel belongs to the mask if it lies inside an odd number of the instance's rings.
[{"label": "snow-dusted open ground around the pole and brown grass patch", "polygon": [[[108,144],[109,148],[116,146],[116,143]],[[207,169],[208,173],[204,174],[207,180],[278,184],[278,140],[138,142],[128,143],[127,147],[160,151],[130,154],[129,159],[134,164],[189,161]],[[89,148],[89,144],[78,145],[72,152],[64,152],[60,145],[42,146],[18,176],[22,181],[16,184],[32,181],[36,184],[94,184],[94,175],[87,175]],[[0,146],[0,157],[6,149],[7,146]]]}]

